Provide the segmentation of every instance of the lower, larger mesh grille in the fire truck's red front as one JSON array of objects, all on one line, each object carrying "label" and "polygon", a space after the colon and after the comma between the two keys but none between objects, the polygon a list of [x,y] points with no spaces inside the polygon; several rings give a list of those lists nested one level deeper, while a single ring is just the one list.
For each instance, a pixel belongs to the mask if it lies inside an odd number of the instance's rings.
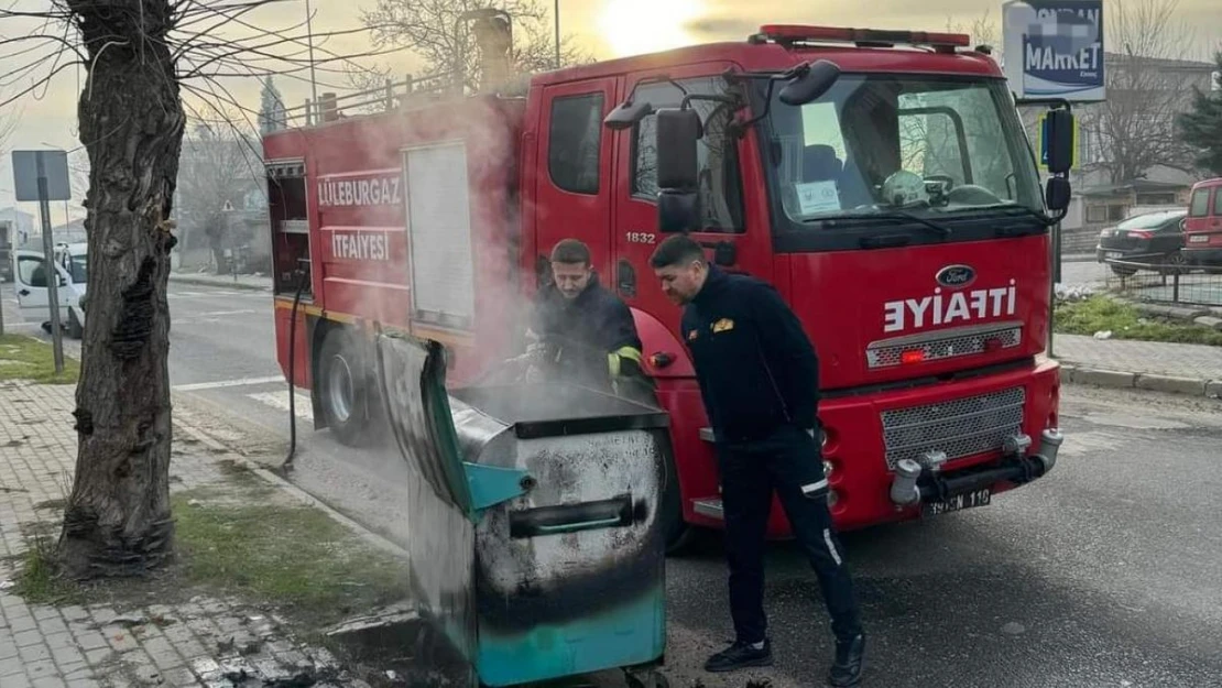
[{"label": "lower, larger mesh grille in the fire truck's red front", "polygon": [[1023,387],[952,401],[882,412],[887,467],[929,451],[951,461],[1000,451],[1006,437],[1023,428]]}]

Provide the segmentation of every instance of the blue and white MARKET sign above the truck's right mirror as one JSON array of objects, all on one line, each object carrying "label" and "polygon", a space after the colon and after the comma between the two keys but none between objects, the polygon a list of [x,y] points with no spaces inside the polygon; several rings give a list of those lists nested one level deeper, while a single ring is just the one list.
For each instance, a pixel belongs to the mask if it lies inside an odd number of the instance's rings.
[{"label": "blue and white MARKET sign above the truck's right mirror", "polygon": [[1002,33],[1006,78],[1019,98],[1106,98],[1103,0],[1011,0]]}]

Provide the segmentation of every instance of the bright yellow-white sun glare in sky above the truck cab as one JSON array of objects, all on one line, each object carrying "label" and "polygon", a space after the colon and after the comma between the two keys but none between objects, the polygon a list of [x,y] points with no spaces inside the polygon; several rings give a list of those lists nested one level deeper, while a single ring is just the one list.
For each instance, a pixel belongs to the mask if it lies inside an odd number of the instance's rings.
[{"label": "bright yellow-white sun glare in sky above the truck cab", "polygon": [[640,55],[693,43],[684,26],[700,15],[700,0],[604,0],[599,32],[615,56]]}]

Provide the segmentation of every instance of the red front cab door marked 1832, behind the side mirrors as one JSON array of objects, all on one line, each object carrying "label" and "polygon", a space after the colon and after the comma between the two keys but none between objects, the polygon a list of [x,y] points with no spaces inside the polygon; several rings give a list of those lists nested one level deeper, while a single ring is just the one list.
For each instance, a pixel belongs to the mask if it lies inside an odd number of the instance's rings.
[{"label": "red front cab door marked 1832, behind the side mirrors", "polygon": [[[667,75],[682,87],[659,81],[659,75],[631,75],[624,97],[649,101],[654,109],[678,108],[683,92],[721,95],[726,93],[721,73],[730,62],[700,64]],[[759,155],[754,152],[754,132],[736,138],[727,132],[733,109],[722,103],[692,100],[700,114],[704,136],[697,143],[699,156],[699,193],[703,225],[692,238],[705,247],[710,262],[733,273],[747,273],[771,280],[770,235],[767,226],[753,226],[748,216],[747,189],[763,189]],[[679,309],[666,301],[654,277],[649,258],[668,235],[657,230],[656,115],[649,115],[635,127],[616,132],[616,243],[615,281],[621,298],[655,315],[670,314],[664,321],[677,331]],[[758,200],[763,191],[754,198]],[[761,202],[761,200],[760,200]]]}]

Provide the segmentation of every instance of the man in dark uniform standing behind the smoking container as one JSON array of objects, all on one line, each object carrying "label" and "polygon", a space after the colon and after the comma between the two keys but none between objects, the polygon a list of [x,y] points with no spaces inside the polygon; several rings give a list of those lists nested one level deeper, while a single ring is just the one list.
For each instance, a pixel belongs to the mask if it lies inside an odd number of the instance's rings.
[{"label": "man in dark uniform standing behind the smoking container", "polygon": [[590,249],[563,240],[551,252],[552,284],[540,291],[528,337],[539,376],[656,403],[640,368],[640,337],[628,304],[599,284]]}]

